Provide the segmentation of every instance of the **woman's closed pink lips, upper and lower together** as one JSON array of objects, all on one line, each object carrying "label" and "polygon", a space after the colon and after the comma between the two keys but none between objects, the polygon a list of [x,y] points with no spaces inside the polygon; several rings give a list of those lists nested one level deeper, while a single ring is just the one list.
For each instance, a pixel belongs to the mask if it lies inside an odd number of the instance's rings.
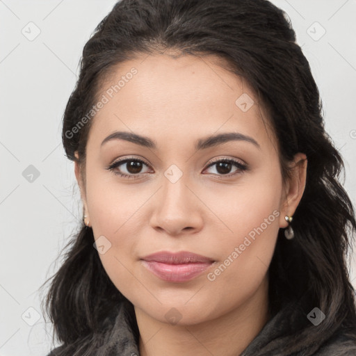
[{"label": "woman's closed pink lips, upper and lower together", "polygon": [[213,264],[213,259],[181,251],[156,252],[143,257],[142,264],[154,275],[168,282],[186,282],[197,277]]}]

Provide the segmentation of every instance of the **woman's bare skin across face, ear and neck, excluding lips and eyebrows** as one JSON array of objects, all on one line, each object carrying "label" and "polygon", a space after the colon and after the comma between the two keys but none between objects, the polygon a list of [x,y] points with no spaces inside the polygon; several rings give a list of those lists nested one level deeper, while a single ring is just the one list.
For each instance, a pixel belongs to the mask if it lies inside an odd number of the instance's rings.
[{"label": "woman's bare skin across face, ear and neck, excluding lips and eyebrows", "polygon": [[[239,355],[269,320],[268,266],[278,230],[287,227],[305,188],[307,160],[298,153],[291,179],[282,183],[277,145],[265,126],[263,108],[245,81],[223,69],[214,56],[140,56],[122,63],[99,93],[135,67],[97,113],[90,129],[84,179],[74,163],[84,209],[95,239],[111,243],[102,264],[115,286],[134,305],[140,330],[140,355]],[[246,111],[235,102],[243,92],[254,99]],[[138,133],[157,149],[125,140],[101,143],[113,131]],[[254,138],[196,151],[195,141],[216,133],[240,132]],[[116,168],[139,176],[128,179],[106,167],[133,156],[149,165]],[[224,177],[212,159],[236,159]],[[165,171],[183,173],[172,183]],[[233,175],[233,173],[236,175]],[[221,178],[221,179],[219,179]],[[254,228],[279,216],[216,279],[207,274],[221,265]],[[298,223],[298,222],[296,222]],[[165,282],[140,258],[153,252],[186,250],[216,262],[184,283]],[[172,308],[180,317],[165,318]]]}]

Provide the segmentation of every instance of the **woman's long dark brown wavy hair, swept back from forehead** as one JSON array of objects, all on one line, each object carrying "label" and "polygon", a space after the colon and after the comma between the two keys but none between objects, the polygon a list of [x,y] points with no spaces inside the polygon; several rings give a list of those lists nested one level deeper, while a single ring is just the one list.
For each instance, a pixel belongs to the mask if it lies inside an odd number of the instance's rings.
[{"label": "woman's long dark brown wavy hair, swept back from forehead", "polygon": [[[284,229],[279,230],[268,270],[269,308],[275,315],[288,302],[302,300],[298,307],[305,316],[318,307],[327,318],[314,327],[305,317],[293,332],[280,336],[283,346],[276,343],[270,351],[292,355],[303,350],[303,355],[313,355],[341,332],[356,341],[355,290],[347,264],[356,221],[353,204],[339,181],[343,159],[325,132],[318,88],[291,22],[269,1],[116,3],[83,48],[79,79],[63,116],[67,158],[85,167],[92,120],[75,133],[73,128],[97,101],[104,79],[126,60],[166,49],[182,56],[216,55],[248,82],[268,108],[283,181],[289,177],[293,156],[298,152],[307,156],[305,191],[293,216],[296,237],[287,241]],[[108,278],[92,247],[94,241],[92,229],[82,223],[65,247],[63,264],[49,279],[46,312],[64,347],[58,355],[82,355],[83,350],[85,355],[95,355],[118,306],[131,305]],[[132,305],[128,317],[137,341]]]}]

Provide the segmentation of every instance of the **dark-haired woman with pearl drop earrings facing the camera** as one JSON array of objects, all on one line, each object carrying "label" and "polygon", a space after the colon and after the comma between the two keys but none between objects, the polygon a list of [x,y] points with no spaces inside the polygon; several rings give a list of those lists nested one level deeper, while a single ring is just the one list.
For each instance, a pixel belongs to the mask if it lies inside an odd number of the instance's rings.
[{"label": "dark-haired woman with pearl drop earrings facing the camera", "polygon": [[356,355],[356,227],[309,63],[265,0],[122,0],[63,145],[84,223],[50,355]]}]

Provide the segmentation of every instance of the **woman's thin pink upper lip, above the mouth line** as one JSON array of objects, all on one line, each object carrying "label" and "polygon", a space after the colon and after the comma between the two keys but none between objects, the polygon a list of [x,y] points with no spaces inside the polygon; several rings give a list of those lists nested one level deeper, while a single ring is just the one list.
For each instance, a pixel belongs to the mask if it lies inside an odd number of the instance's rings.
[{"label": "woman's thin pink upper lip, above the mouth line", "polygon": [[213,262],[213,259],[188,251],[169,252],[161,251],[149,254],[142,258],[145,261],[156,261],[163,264],[193,264]]}]

